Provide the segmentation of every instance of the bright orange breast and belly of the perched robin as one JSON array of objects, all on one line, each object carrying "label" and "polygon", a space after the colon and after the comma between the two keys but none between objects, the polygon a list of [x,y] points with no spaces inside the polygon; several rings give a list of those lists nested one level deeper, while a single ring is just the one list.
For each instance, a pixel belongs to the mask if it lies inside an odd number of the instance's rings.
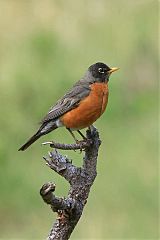
[{"label": "bright orange breast and belly of the perched robin", "polygon": [[61,122],[67,128],[78,130],[89,127],[105,111],[108,102],[108,84],[94,83],[91,85],[91,92],[83,99],[78,107],[65,113]]}]

